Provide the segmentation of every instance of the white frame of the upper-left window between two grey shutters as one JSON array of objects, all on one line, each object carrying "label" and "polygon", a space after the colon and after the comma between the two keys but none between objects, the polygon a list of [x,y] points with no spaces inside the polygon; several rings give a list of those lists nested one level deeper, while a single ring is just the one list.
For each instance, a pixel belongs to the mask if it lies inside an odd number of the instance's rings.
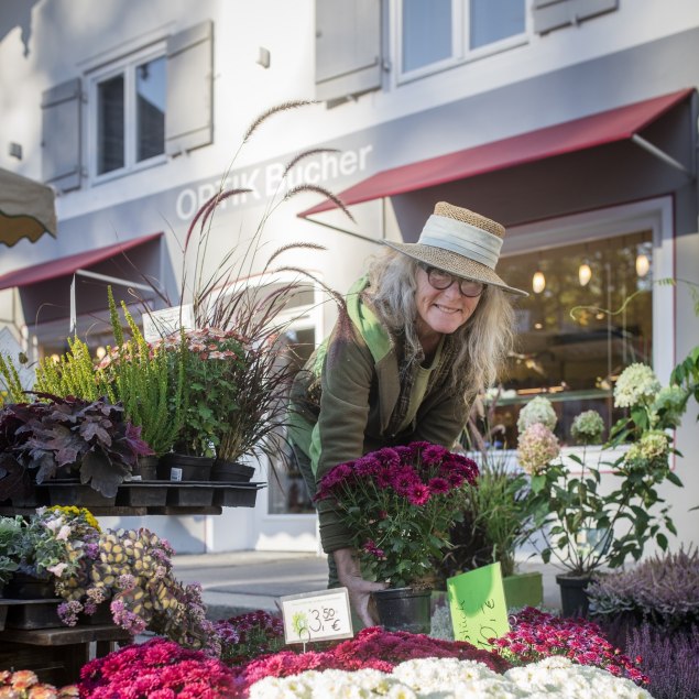
[{"label": "white frame of the upper-left window between two grey shutters", "polygon": [[[160,165],[166,162],[165,144],[163,142],[163,152],[143,161],[136,161],[136,76],[135,68],[143,63],[154,61],[156,58],[166,58],[165,41],[157,42],[138,52],[130,53],[128,56],[121,57],[119,61],[102,65],[99,68],[86,75],[87,78],[87,148],[89,154],[88,161],[88,181],[91,185],[101,184],[111,179],[123,177],[134,172]],[[99,110],[98,110],[98,88],[101,83],[119,75],[124,76],[124,165],[108,173],[98,174],[98,135],[99,135]],[[167,116],[166,116],[167,118]]]}]

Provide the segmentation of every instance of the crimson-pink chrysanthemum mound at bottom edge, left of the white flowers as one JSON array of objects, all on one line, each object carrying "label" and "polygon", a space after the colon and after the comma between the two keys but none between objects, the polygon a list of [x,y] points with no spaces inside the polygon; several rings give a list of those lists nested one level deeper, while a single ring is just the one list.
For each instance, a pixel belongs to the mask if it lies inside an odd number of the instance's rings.
[{"label": "crimson-pink chrysanthemum mound at bottom edge, left of the white flowers", "polygon": [[233,695],[233,673],[219,659],[153,638],[96,658],[80,670],[83,699],[223,699]]}]

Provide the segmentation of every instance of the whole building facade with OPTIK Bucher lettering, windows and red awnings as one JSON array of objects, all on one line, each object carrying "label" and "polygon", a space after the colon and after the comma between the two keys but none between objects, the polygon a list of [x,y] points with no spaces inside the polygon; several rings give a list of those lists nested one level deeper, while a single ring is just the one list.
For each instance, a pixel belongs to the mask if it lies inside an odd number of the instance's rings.
[{"label": "whole building facade with OPTIK Bucher lettering, windows and red awnings", "polygon": [[[696,0],[6,0],[0,167],[56,189],[58,232],[2,250],[0,319],[35,359],[65,347],[79,270],[145,276],[163,292],[154,308],[179,303],[187,229],[220,186],[250,192],[217,211],[208,269],[288,188],[341,193],[356,222],[306,192],[263,231],[270,245],[324,245],[285,261],[339,292],[447,200],[507,227],[499,272],[532,291],[503,376],[505,440],[537,394],[566,440],[582,409],[616,418],[625,365],[666,382],[699,343],[686,283],[699,283],[698,88]],[[255,118],[293,100],[314,103],[239,150]],[[294,309],[305,347],[335,319],[309,292]],[[74,299],[80,336],[109,341],[105,285],[78,272]],[[663,492],[684,543],[699,531],[696,415],[692,402],[676,433],[685,488]],[[252,510],[148,525],[181,553],[316,550],[301,481],[267,468]]]}]

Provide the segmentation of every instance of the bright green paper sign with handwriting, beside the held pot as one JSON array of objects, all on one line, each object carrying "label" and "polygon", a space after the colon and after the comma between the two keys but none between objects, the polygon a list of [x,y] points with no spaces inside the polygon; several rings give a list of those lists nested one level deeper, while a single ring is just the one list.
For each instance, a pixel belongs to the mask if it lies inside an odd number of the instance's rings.
[{"label": "bright green paper sign with handwriting, beside the held pot", "polygon": [[488,638],[510,631],[500,564],[462,572],[447,580],[454,637],[491,649]]}]

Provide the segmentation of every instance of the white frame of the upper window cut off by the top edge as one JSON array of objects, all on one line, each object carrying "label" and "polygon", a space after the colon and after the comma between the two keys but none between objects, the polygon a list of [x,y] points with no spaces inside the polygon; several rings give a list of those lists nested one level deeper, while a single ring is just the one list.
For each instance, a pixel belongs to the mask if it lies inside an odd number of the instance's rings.
[{"label": "white frame of the upper window cut off by the top edge", "polygon": [[394,64],[397,66],[396,79],[398,85],[411,83],[441,70],[447,70],[456,66],[478,61],[493,54],[502,53],[522,46],[529,42],[532,35],[532,13],[531,13],[531,0],[524,0],[524,32],[521,34],[514,34],[500,41],[480,46],[479,48],[470,50],[468,46],[468,37],[470,35],[469,26],[469,7],[470,0],[451,0],[451,43],[454,46],[454,53],[450,57],[443,61],[430,63],[421,68],[414,70],[403,72],[403,1],[393,0],[393,17],[395,22],[394,32]]}]

